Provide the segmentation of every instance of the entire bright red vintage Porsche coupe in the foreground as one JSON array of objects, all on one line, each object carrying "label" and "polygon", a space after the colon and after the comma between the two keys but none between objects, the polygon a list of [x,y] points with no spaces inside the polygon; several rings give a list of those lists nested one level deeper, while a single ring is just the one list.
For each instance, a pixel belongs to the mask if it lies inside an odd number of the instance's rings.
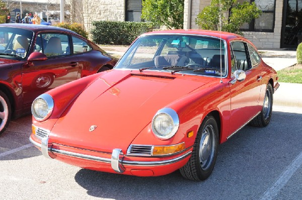
[{"label": "entire bright red vintage Porsche coupe in the foreground", "polygon": [[218,144],[248,123],[269,124],[277,81],[241,36],[146,33],[112,70],[37,97],[30,141],[83,168],[136,176],[180,169],[204,180]]}]

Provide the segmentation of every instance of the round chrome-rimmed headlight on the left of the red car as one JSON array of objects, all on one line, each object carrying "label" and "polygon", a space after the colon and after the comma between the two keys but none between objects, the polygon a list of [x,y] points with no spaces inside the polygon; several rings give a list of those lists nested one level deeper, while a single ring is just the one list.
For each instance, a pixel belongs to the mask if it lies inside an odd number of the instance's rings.
[{"label": "round chrome-rimmed headlight on the left of the red car", "polygon": [[37,121],[46,120],[52,113],[53,99],[49,94],[38,96],[32,104],[32,114]]}]

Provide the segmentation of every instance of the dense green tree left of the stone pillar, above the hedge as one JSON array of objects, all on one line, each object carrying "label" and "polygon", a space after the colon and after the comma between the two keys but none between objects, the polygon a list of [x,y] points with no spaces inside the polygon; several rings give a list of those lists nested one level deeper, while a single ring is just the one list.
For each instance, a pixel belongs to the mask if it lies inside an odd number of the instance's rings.
[{"label": "dense green tree left of the stone pillar, above the hedge", "polygon": [[142,0],[141,18],[168,29],[182,29],[184,0]]}]

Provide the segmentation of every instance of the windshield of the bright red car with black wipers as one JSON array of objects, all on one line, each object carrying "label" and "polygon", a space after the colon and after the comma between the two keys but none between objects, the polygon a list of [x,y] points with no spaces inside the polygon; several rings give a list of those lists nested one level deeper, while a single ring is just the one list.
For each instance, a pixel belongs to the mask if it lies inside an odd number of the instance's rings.
[{"label": "windshield of the bright red car with black wipers", "polygon": [[218,38],[150,35],[138,38],[115,68],[220,77],[226,75],[224,55],[225,42]]}]

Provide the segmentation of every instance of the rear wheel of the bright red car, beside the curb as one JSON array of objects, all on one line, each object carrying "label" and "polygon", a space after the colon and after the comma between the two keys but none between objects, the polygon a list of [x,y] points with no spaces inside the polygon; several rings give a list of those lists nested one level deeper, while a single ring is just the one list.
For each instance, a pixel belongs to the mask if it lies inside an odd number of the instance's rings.
[{"label": "rear wheel of the bright red car, beside the curb", "polygon": [[273,88],[268,84],[265,91],[264,102],[261,112],[250,122],[250,125],[256,127],[265,127],[269,124],[273,108]]}]

